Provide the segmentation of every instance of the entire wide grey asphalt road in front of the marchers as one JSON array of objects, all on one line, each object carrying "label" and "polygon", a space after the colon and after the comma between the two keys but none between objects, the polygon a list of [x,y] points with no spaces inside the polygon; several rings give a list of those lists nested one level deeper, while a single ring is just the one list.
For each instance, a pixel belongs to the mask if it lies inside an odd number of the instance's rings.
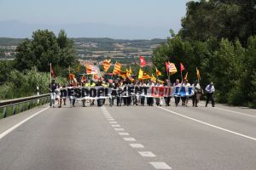
[{"label": "entire wide grey asphalt road in front of the marchers", "polygon": [[42,106],[0,120],[1,170],[254,170],[255,157],[256,111],[239,107]]}]

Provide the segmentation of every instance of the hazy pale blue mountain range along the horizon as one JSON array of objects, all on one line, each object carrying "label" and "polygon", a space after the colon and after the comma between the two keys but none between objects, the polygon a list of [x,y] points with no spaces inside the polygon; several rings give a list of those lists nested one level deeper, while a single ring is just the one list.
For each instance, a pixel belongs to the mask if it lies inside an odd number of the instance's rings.
[{"label": "hazy pale blue mountain range along the horizon", "polygon": [[38,29],[58,33],[61,29],[68,37],[111,37],[118,39],[153,39],[169,36],[169,28],[110,26],[105,24],[81,23],[70,25],[28,24],[20,21],[0,21],[0,37],[31,37]]}]

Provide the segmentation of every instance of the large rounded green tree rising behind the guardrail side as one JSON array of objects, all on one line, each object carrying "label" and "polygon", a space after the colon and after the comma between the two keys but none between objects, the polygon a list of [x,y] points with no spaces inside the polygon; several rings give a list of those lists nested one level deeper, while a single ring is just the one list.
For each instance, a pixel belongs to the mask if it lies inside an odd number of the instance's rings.
[{"label": "large rounded green tree rising behind the guardrail side", "polygon": [[38,71],[49,71],[50,63],[67,68],[74,64],[76,56],[73,41],[62,30],[58,37],[52,31],[35,31],[32,40],[26,38],[16,52],[15,68],[19,71],[31,70],[34,66]]}]

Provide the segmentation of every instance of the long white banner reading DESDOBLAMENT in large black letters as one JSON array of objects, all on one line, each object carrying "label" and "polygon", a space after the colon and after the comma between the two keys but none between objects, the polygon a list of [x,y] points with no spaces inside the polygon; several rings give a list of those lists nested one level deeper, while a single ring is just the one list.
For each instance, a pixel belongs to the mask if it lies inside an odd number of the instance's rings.
[{"label": "long white banner reading DESDOBLAMENT in large black letters", "polygon": [[124,86],[122,88],[104,88],[104,87],[76,87],[61,88],[61,98],[72,97],[75,99],[104,99],[112,97],[130,97],[140,95],[145,97],[186,97],[194,94],[194,88],[191,87],[140,87]]}]

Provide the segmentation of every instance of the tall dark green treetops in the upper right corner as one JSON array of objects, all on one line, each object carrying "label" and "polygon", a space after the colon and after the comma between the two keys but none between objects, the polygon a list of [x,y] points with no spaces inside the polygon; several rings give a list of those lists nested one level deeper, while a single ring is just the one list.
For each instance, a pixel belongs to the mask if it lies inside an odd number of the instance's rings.
[{"label": "tall dark green treetops in the upper right corner", "polygon": [[209,37],[247,38],[256,33],[256,9],[253,0],[201,0],[187,3],[187,14],[179,34],[183,39],[206,41]]}]

